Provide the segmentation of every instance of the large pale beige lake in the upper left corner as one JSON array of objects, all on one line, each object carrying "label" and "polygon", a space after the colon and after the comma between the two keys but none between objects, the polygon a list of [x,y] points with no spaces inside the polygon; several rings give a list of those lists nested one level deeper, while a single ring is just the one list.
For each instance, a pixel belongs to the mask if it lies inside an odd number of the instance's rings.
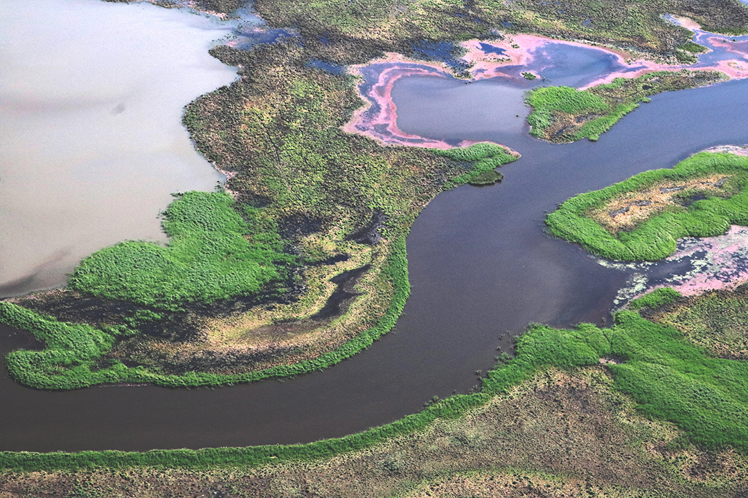
[{"label": "large pale beige lake in the upper left corner", "polygon": [[207,53],[229,31],[151,4],[0,0],[0,296],[164,240],[170,194],[215,187],[181,115],[236,78]]}]

